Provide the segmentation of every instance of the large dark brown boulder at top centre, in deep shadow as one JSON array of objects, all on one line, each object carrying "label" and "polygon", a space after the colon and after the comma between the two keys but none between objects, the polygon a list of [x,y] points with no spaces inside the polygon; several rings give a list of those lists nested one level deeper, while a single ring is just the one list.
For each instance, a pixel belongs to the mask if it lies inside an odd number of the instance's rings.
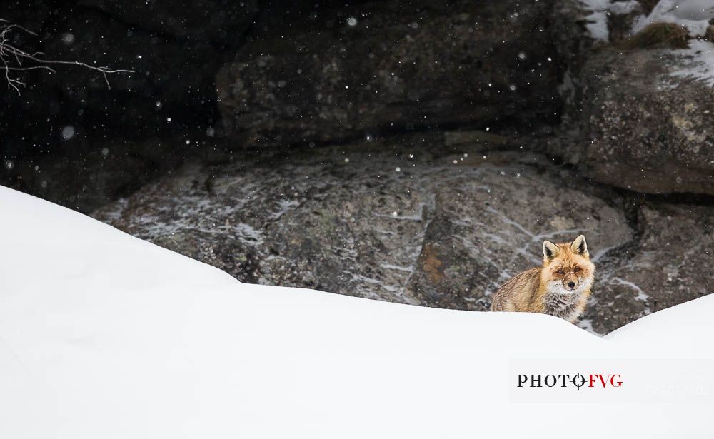
[{"label": "large dark brown boulder at top centre, in deep shadow", "polygon": [[370,7],[298,14],[242,46],[216,79],[226,133],[270,146],[558,111],[550,2]]}]

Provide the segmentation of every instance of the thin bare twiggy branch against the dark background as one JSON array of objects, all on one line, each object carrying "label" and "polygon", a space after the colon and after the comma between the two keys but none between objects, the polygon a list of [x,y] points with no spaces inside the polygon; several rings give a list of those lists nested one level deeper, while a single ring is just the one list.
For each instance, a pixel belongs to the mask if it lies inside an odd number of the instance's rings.
[{"label": "thin bare twiggy branch against the dark background", "polygon": [[[42,52],[35,52],[34,54],[29,54],[16,46],[13,46],[9,42],[9,37],[12,31],[23,31],[26,34],[36,36],[33,31],[20,26],[19,24],[12,24],[7,20],[0,19],[0,71],[5,71],[5,81],[7,83],[7,88],[16,91],[20,94],[20,87],[26,84],[17,78],[10,76],[11,71],[29,71],[29,70],[47,70],[55,73],[55,69],[52,69],[50,65],[63,65],[63,66],[79,66],[84,69],[89,69],[92,71],[99,72],[104,77],[104,82],[106,82],[107,89],[111,90],[109,85],[109,74],[120,74],[120,73],[134,73],[133,70],[126,69],[111,69],[106,66],[92,66],[81,61],[63,61],[56,59],[44,59],[39,56]],[[24,65],[24,63],[30,65]]]}]

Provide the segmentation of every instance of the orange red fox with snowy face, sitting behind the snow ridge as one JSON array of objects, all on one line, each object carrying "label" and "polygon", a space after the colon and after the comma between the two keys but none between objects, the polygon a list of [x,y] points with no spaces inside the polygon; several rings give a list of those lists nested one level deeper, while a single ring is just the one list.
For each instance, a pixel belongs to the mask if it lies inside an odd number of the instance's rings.
[{"label": "orange red fox with snowy face, sitting behind the snow ridge", "polygon": [[498,288],[491,311],[544,313],[574,323],[585,310],[595,279],[588,243],[543,241],[543,266],[523,271]]}]

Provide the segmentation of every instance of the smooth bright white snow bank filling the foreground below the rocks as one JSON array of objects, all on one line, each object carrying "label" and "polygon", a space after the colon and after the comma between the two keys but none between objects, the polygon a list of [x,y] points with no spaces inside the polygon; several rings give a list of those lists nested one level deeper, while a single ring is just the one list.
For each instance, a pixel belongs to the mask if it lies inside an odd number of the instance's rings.
[{"label": "smooth bright white snow bank filling the foreground below the rocks", "polygon": [[[550,316],[241,284],[6,188],[0,211],[0,438],[712,432],[714,296],[598,338]],[[517,387],[540,371],[623,385]]]}]

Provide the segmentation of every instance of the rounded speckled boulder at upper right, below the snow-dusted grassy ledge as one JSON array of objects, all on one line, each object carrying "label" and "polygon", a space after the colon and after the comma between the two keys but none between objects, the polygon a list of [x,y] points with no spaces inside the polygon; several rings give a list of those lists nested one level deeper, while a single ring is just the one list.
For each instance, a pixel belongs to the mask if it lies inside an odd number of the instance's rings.
[{"label": "rounded speckled boulder at upper right, below the snow-dusted grassy ledge", "polygon": [[[714,194],[713,79],[693,49],[601,49],[581,72],[577,138],[551,152],[589,176],[645,193]],[[706,51],[710,51],[707,54]]]}]

